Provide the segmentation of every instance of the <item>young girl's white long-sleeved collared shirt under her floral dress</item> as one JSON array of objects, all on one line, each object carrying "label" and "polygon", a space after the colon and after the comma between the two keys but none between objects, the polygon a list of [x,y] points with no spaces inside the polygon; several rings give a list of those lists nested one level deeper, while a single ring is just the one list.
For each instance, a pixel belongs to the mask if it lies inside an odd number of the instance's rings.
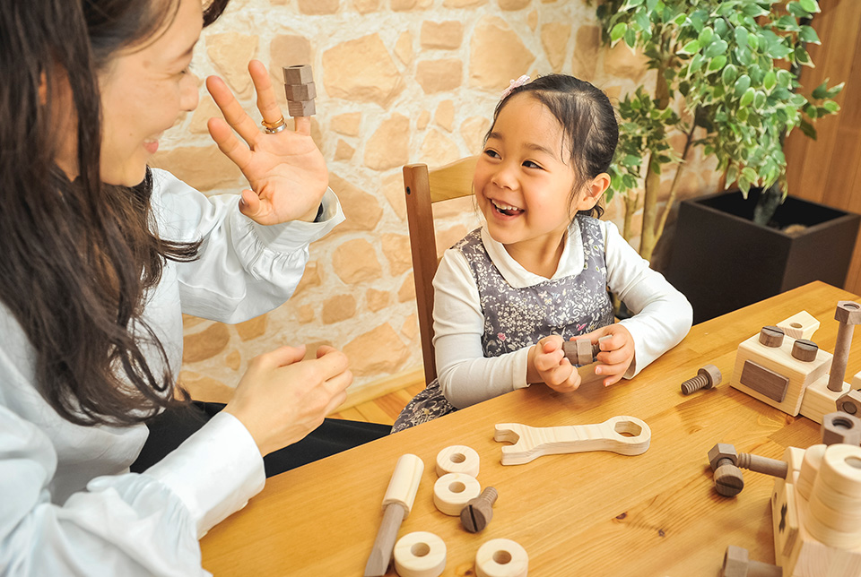
[{"label": "young girl's white long-sleeved collared shirt under her floral dress", "polygon": [[[603,225],[607,286],[634,315],[621,321],[634,340],[634,360],[626,378],[639,373],[690,331],[693,310],[688,300],[653,271],[625,241],[612,222]],[[503,245],[482,228],[482,241],[492,263],[512,287],[531,287],[548,279],[526,271]],[[551,280],[578,274],[584,254],[575,220]],[[462,409],[482,400],[528,386],[529,348],[484,357],[484,316],[478,288],[464,254],[449,248],[433,278],[433,345],[439,386],[448,401]]]}]

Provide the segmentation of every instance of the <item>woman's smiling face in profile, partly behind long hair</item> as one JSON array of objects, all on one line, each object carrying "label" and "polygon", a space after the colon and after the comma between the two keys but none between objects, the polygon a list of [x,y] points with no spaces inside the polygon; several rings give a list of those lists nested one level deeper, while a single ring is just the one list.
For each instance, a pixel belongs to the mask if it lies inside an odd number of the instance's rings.
[{"label": "woman's smiling face in profile, partly behind long hair", "polygon": [[161,134],[196,108],[197,82],[188,65],[202,28],[200,0],[178,0],[176,14],[153,39],[121,53],[100,73],[102,182],[139,184]]}]

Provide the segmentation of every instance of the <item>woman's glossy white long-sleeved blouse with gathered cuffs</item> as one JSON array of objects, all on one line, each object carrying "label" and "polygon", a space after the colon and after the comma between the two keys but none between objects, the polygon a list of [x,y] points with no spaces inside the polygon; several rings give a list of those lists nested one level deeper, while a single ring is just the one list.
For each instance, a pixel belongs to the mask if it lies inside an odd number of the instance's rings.
[{"label": "woman's glossy white long-sleeved blouse with gathered cuffs", "polygon": [[[204,239],[197,261],[165,263],[144,305],[176,375],[182,313],[239,323],[281,305],[299,284],[309,243],[344,214],[329,190],[320,222],[264,227],[239,212],[235,195],[206,198],[160,170],[153,180],[158,234]],[[146,426],[77,426],[59,417],[36,389],[34,362],[0,303],[0,573],[209,574],[198,539],[265,482],[245,426],[219,414],[151,469],[130,473]]]}]

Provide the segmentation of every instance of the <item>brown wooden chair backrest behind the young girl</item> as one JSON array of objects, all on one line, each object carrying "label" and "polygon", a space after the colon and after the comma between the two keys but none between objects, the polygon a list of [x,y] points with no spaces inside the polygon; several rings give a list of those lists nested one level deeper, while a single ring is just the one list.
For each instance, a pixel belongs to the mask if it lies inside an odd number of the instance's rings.
[{"label": "brown wooden chair backrest behind the young girl", "polygon": [[425,164],[404,167],[406,218],[410,227],[413,253],[413,281],[422,337],[424,378],[431,383],[437,376],[433,358],[433,275],[437,271],[436,235],[431,204],[473,194],[473,173],[478,157],[457,160],[448,166],[428,170]]}]

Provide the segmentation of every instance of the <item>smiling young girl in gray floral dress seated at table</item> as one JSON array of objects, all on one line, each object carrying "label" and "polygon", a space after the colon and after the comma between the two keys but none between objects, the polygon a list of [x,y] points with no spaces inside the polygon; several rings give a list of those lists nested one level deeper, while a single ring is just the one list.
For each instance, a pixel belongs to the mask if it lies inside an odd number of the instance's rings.
[{"label": "smiling young girl in gray floral dress seated at table", "polygon": [[[473,186],[484,224],[433,280],[439,377],[393,431],[544,383],[578,388],[571,337],[601,340],[604,386],[637,375],[691,328],[691,305],[610,222],[596,220],[618,127],[603,92],[552,74],[512,83],[493,115]],[[607,289],[634,313],[613,323]]]}]

